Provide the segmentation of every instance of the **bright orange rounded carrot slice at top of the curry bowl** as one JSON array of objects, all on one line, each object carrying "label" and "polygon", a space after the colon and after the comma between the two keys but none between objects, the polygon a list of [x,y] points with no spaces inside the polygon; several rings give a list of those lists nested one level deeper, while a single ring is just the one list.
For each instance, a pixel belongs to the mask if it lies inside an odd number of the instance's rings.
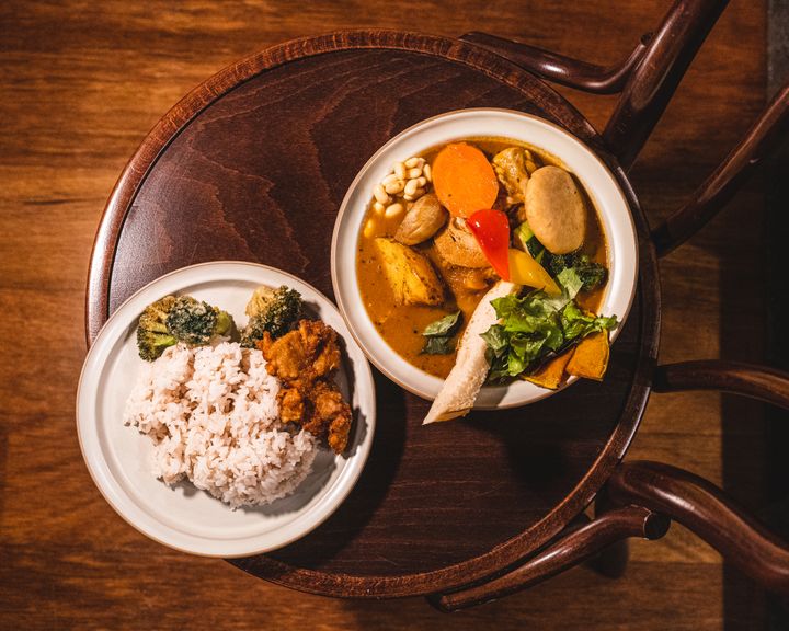
[{"label": "bright orange rounded carrot slice at top of the curry bowl", "polygon": [[433,161],[433,186],[455,217],[490,208],[499,195],[493,167],[482,151],[466,142],[447,145],[438,152]]}]

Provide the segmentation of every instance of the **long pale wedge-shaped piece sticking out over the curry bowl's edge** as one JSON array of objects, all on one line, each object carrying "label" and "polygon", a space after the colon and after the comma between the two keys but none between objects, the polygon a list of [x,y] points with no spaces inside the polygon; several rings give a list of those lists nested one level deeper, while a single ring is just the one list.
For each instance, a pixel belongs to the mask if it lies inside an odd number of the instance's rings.
[{"label": "long pale wedge-shaped piece sticking out over the curry bowl's edge", "polygon": [[499,280],[480,300],[460,340],[455,366],[433,401],[427,416],[422,422],[423,425],[465,416],[473,408],[477,394],[490,369],[485,359],[488,344],[480,334],[488,331],[498,320],[491,300],[513,294],[519,287],[514,283]]}]

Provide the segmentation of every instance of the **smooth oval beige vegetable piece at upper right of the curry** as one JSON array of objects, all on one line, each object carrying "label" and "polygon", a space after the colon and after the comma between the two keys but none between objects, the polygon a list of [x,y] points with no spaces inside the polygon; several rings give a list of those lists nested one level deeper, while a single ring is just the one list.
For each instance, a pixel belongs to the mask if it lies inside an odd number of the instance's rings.
[{"label": "smooth oval beige vegetable piece at upper right of the curry", "polygon": [[526,220],[549,252],[568,254],[581,248],[586,233],[586,208],[570,173],[542,167],[526,186]]}]

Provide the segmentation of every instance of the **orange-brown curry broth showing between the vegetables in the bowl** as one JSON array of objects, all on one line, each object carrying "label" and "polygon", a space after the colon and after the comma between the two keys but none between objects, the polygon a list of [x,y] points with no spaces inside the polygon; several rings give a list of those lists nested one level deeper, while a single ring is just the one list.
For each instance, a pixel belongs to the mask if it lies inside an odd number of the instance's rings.
[{"label": "orange-brown curry broth showing between the vegetables in the bowl", "polygon": [[[464,141],[472,144],[481,149],[489,159],[507,147],[519,146],[531,151],[531,153],[539,159],[541,165],[553,164],[565,169],[559,159],[526,142],[508,140],[505,138],[469,138]],[[443,147],[444,145],[425,151],[421,154],[421,157],[432,163],[433,158]],[[607,244],[603,236],[599,217],[594,208],[594,205],[588,198],[586,191],[578,180],[575,180],[575,183],[579,186],[579,191],[584,196],[586,211],[588,214],[586,222],[586,239],[581,248],[581,251],[587,254],[593,261],[608,266]],[[432,191],[432,187],[428,188],[428,192],[430,191]],[[374,216],[374,202],[373,192],[370,191],[370,203],[368,205],[367,213],[365,214],[365,218],[362,223],[363,226],[367,222],[369,217]],[[458,299],[447,287],[445,291],[446,299],[444,305],[441,307],[426,307],[423,305],[396,306],[391,287],[384,275],[384,269],[380,261],[378,260],[373,242],[378,237],[393,237],[400,221],[402,221],[402,216],[395,219],[376,217],[377,230],[373,234],[365,237],[362,231],[359,232],[356,255],[356,272],[358,276],[362,301],[364,302],[365,308],[367,309],[367,314],[375,324],[378,333],[398,355],[425,372],[445,378],[455,365],[455,356],[457,353],[448,355],[423,355],[421,351],[424,346],[425,337],[422,335],[422,331],[424,331],[424,328],[431,322],[435,322],[439,318],[454,313],[460,309],[462,311],[464,325],[457,334],[457,340],[459,340],[466,329],[466,324],[477,308],[477,305],[485,295],[488,289],[482,289],[474,294],[464,295]],[[514,228],[514,226],[512,227]],[[433,240],[428,239],[425,243],[421,243],[413,248],[422,254],[427,255],[428,259],[432,259],[432,243]],[[435,265],[434,267],[441,277],[438,267]],[[576,302],[583,309],[597,312],[603,299],[604,290],[605,286],[602,286],[594,291],[581,292],[576,297]]]}]

